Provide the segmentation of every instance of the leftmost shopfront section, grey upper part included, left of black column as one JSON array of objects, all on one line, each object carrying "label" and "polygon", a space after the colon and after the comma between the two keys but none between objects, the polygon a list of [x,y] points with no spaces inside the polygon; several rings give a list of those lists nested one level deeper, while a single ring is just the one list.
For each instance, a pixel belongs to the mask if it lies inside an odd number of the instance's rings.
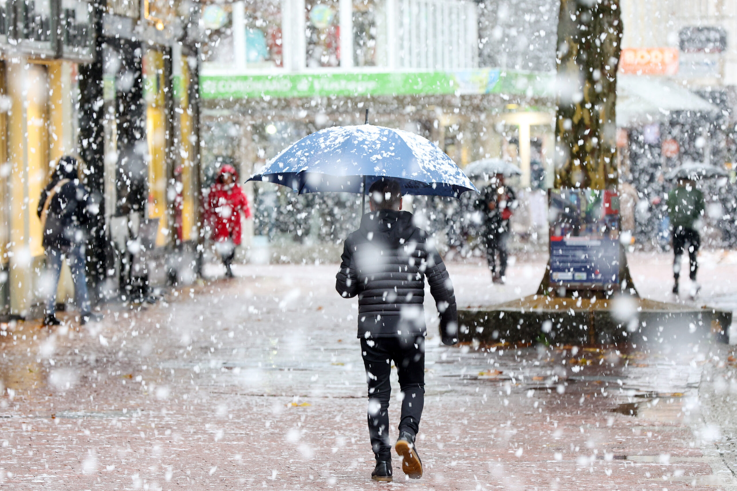
[{"label": "leftmost shopfront section, grey upper part included, left of black column", "polygon": [[[27,316],[43,293],[36,215],[52,163],[77,150],[77,66],[93,58],[91,4],[8,1],[0,23],[0,313]],[[65,282],[62,282],[64,285]],[[60,293],[68,293],[62,286]]]}]

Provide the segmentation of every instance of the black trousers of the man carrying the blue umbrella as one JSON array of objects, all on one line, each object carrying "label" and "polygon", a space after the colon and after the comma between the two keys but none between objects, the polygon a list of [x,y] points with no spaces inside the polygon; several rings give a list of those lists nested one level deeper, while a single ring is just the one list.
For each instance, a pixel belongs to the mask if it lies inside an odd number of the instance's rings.
[{"label": "black trousers of the man carrying the blue umbrella", "polygon": [[361,353],[368,383],[368,434],[377,459],[391,459],[389,442],[389,398],[391,362],[397,367],[402,390],[399,431],[413,435],[425,405],[425,338],[361,338]]}]

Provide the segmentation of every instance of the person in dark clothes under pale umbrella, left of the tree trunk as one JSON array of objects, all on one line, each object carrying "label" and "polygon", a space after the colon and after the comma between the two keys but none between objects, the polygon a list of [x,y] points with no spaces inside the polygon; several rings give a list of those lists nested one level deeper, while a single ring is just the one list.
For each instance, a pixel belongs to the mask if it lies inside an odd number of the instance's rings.
[{"label": "person in dark clothes under pale umbrella, left of the tree trunk", "polygon": [[[483,238],[486,242],[486,261],[492,272],[492,282],[506,282],[507,239],[509,237],[509,219],[517,208],[517,196],[514,191],[504,185],[504,175],[497,174],[489,186],[481,190],[476,201],[477,209],[483,216]],[[497,268],[497,254],[499,266]]]}]

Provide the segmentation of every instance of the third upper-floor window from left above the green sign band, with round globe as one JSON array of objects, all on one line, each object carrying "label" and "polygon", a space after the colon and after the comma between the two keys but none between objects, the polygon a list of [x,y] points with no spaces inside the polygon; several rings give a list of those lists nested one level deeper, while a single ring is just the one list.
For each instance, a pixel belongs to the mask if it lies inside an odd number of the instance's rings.
[{"label": "third upper-floor window from left above the green sign band, with round globe", "polygon": [[340,65],[337,0],[307,0],[307,67]]}]

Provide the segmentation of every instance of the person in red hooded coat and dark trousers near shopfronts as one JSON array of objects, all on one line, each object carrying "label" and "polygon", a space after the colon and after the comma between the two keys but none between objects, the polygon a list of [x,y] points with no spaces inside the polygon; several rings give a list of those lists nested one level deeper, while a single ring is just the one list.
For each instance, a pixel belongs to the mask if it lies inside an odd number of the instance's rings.
[{"label": "person in red hooded coat and dark trousers near shopfronts", "polygon": [[235,257],[235,248],[241,241],[241,213],[251,217],[248,198],[238,184],[238,173],[232,165],[220,167],[215,183],[210,187],[205,202],[205,215],[212,230],[212,240],[223,264],[226,265],[226,276],[233,277],[231,263]]}]

